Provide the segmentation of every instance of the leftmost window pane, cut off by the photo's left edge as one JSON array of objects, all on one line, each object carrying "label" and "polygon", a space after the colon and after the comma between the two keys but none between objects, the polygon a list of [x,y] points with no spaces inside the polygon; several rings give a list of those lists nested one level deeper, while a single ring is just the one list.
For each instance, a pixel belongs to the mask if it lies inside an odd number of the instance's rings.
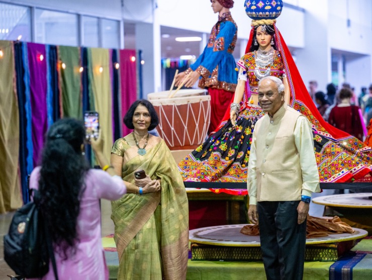
[{"label": "leftmost window pane, cut off by the photo's left edge", "polygon": [[30,9],[0,3],[0,40],[15,41],[19,38],[32,40]]}]

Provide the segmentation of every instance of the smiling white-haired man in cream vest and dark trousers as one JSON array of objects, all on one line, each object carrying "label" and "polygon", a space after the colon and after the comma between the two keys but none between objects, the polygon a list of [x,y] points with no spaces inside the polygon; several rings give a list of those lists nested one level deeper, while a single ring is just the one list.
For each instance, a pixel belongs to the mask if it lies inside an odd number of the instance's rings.
[{"label": "smiling white-haired man in cream vest and dark trousers", "polygon": [[281,79],[258,84],[267,114],[254,127],[248,164],[248,217],[259,223],[267,279],[302,279],[306,217],[311,194],[320,192],[310,122],[284,99]]}]

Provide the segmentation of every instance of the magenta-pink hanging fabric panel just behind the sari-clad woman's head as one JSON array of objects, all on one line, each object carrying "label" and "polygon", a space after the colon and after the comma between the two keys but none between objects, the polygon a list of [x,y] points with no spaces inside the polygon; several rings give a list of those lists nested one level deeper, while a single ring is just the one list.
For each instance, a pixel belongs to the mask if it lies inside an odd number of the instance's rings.
[{"label": "magenta-pink hanging fabric panel just behind the sari-clad woman's head", "polygon": [[[131,104],[137,100],[136,61],[131,60],[133,56],[136,57],[135,50],[120,50],[120,80],[123,118]],[[128,129],[123,124],[123,136],[129,134],[131,131],[132,130]]]}]

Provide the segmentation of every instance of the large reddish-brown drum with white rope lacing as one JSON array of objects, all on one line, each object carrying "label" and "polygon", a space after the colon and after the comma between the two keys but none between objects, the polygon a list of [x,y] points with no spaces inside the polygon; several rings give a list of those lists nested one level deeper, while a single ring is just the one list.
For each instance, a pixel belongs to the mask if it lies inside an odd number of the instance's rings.
[{"label": "large reddish-brown drum with white rope lacing", "polygon": [[204,89],[148,94],[159,117],[156,130],[171,150],[195,149],[204,142],[211,118],[211,97]]}]

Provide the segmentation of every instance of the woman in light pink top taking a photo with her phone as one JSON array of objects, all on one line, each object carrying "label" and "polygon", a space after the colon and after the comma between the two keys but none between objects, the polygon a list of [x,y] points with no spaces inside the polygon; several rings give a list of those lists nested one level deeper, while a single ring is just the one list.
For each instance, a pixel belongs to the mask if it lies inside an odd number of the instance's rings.
[{"label": "woman in light pink top taking a photo with her phone", "polygon": [[[60,279],[108,279],[101,241],[100,199],[117,200],[126,186],[103,153],[102,139],[91,146],[103,170],[90,169],[82,151],[83,125],[62,119],[49,129],[41,166],[30,177],[39,190],[41,211],[49,228]],[[42,279],[54,279],[52,264]]]}]

